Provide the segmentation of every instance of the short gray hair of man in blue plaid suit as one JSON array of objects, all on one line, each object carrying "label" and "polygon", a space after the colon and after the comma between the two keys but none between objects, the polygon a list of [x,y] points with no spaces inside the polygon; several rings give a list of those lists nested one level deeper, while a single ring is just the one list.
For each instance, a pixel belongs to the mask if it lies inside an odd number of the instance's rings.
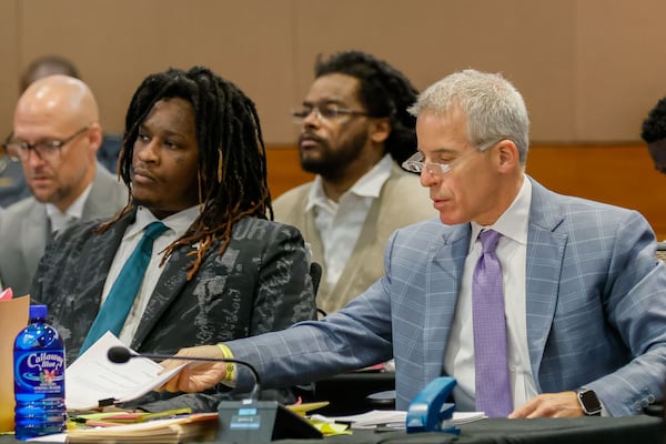
[{"label": "short gray hair of man in blue plaid suit", "polygon": [[509,139],[525,164],[529,145],[529,118],[523,97],[502,74],[467,69],[445,77],[423,91],[407,110],[446,114],[461,110],[467,117],[467,134],[477,147]]}]

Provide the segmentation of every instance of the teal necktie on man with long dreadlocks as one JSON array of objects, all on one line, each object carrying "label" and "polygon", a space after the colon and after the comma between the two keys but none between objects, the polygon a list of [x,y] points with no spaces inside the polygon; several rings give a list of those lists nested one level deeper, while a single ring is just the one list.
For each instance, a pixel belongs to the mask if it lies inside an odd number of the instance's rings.
[{"label": "teal necktie on man with long dreadlocks", "polygon": [[143,282],[143,275],[152,255],[153,242],[165,230],[167,226],[162,222],[152,222],[145,228],[143,238],[141,238],[139,244],[122,266],[118,279],[113,282],[107,301],[94,319],[79,354],[87,351],[88,347],[94,344],[108,331],[117,336],[120,334],[130,309],[134,304],[134,297],[139,293],[141,282]]}]

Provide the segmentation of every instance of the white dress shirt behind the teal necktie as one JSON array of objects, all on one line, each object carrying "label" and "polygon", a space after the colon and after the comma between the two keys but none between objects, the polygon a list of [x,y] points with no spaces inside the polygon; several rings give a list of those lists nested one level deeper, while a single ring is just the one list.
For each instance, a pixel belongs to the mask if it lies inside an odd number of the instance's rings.
[{"label": "white dress shirt behind the teal necktie", "polygon": [[[134,304],[132,305],[132,309],[125,319],[124,326],[120,332],[119,339],[125,345],[131,344],[132,337],[134,337],[134,333],[137,332],[139,323],[141,322],[143,311],[150,301],[150,296],[158,284],[160,275],[162,274],[164,268],[160,266],[160,261],[164,254],[164,249],[184,234],[188,228],[199,215],[199,205],[195,205],[161,220],[161,222],[167,225],[168,230],[164,231],[164,233],[158,239],[155,239],[153,243],[153,252],[150,258],[148,269],[145,270],[141,289],[134,299]],[[148,209],[139,206],[137,210],[137,220],[127,228],[120,246],[118,248],[115,256],[113,258],[113,262],[111,263],[111,269],[109,269],[107,282],[104,283],[104,291],[102,292],[102,304],[107,300],[107,296],[111,291],[111,286],[113,286],[113,283],[120,274],[122,266],[128,261],[137,248],[137,244],[143,236],[143,229],[155,221],[158,221],[158,219]]]}]

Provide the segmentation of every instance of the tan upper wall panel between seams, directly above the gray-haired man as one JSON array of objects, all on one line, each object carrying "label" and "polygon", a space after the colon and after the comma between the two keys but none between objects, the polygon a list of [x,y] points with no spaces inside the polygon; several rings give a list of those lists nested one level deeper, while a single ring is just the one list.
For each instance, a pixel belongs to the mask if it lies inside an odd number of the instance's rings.
[{"label": "tan upper wall panel between seams, directly above the gray-haired man", "polygon": [[317,53],[357,48],[395,64],[420,90],[465,68],[502,72],[525,97],[535,140],[572,140],[574,0],[387,3],[337,0],[339,7],[331,8],[322,1],[296,2],[302,94]]}]

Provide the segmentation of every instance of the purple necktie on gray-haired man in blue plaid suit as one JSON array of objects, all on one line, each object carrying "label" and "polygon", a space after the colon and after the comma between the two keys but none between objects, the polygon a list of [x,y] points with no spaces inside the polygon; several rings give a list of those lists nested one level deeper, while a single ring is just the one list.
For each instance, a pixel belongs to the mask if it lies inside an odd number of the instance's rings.
[{"label": "purple necktie on gray-haired man in blue plaid suit", "polygon": [[472,282],[476,410],[491,417],[506,417],[513,410],[502,266],[495,254],[500,236],[494,230],[478,234],[482,252]]}]

